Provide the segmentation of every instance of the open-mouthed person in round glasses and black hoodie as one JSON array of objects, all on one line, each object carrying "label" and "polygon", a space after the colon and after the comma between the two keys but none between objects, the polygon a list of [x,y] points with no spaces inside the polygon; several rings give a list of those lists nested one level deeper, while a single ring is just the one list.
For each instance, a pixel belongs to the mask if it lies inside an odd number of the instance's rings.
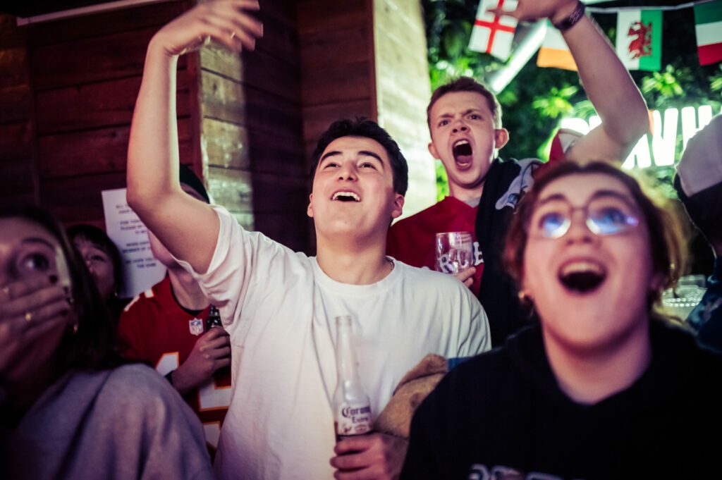
[{"label": "open-mouthed person in round glasses and black hoodie", "polygon": [[539,324],[444,378],[401,477],[711,478],[722,363],[653,310],[682,269],[678,232],[606,163],[536,179],[505,261]]}]

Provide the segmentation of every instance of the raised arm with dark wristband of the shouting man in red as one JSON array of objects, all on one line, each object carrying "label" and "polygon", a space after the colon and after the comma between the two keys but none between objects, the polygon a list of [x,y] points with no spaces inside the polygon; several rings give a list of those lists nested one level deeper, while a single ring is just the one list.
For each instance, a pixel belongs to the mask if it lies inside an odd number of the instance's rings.
[{"label": "raised arm with dark wristband of the shouting man in red", "polygon": [[[557,25],[577,4],[576,0],[519,0],[516,11],[505,14],[523,20],[547,17]],[[567,159],[623,161],[649,131],[647,105],[614,48],[589,17],[583,16],[562,35],[602,121],[567,152]]]}]

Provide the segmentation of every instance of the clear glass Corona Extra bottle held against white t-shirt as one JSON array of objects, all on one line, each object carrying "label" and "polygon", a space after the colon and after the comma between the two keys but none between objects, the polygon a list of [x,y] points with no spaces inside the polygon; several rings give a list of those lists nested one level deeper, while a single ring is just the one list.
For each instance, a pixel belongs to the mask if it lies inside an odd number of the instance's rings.
[{"label": "clear glass Corona Extra bottle held against white t-shirt", "polygon": [[371,402],[359,377],[352,320],[336,317],[336,369],[339,383],[334,391],[334,427],[336,442],[371,431]]}]

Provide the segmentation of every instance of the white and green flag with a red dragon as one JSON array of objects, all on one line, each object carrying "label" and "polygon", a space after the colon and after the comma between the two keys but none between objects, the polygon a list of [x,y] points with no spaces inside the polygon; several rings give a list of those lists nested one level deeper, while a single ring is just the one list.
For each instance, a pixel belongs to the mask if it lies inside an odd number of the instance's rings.
[{"label": "white and green flag with a red dragon", "polygon": [[661,70],[661,10],[624,10],[617,14],[617,56],[627,70]]}]

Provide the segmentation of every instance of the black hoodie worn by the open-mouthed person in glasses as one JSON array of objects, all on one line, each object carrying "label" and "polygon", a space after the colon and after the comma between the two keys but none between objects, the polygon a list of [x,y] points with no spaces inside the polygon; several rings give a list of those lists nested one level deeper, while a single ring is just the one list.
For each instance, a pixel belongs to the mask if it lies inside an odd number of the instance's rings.
[{"label": "black hoodie worn by the open-mouthed person in glasses", "polygon": [[401,479],[722,478],[722,358],[656,320],[651,341],[635,383],[582,405],[557,386],[541,329],[520,331],[419,406]]}]

